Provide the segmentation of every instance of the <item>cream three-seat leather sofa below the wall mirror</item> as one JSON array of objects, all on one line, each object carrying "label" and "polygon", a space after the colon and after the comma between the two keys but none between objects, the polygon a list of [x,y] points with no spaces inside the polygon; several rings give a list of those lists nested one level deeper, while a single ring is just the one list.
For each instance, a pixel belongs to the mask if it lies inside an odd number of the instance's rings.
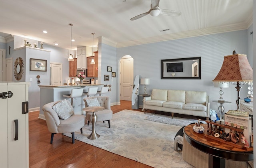
[{"label": "cream three-seat leather sofa below the wall mirror", "polygon": [[209,97],[203,91],[153,89],[145,98],[145,109],[172,113],[210,117]]}]

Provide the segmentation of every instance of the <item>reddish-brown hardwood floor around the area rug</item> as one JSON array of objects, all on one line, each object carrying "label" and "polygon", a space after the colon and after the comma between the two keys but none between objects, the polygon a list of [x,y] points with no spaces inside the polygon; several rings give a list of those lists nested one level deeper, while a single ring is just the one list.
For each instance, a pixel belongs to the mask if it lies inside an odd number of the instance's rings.
[{"label": "reddish-brown hardwood floor around the area rug", "polygon": [[[111,106],[113,113],[124,109],[133,110],[130,101],[120,102],[121,105]],[[146,112],[171,115],[150,110]],[[50,144],[51,133],[48,131],[46,121],[38,119],[38,115],[39,111],[29,113],[30,168],[150,168],[78,140],[72,144],[71,138],[62,134],[55,134],[53,143]]]}]

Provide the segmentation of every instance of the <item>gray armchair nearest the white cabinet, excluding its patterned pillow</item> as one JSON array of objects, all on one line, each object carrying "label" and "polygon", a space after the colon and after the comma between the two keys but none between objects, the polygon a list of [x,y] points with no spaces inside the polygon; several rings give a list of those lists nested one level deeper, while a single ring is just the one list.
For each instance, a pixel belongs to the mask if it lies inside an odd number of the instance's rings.
[{"label": "gray armchair nearest the white cabinet, excluding its patterned pillow", "polygon": [[[72,143],[74,144],[74,132],[79,130],[82,132],[82,127],[85,125],[85,116],[84,115],[71,115],[68,119],[60,119],[57,115],[56,111],[52,108],[56,103],[59,101],[51,102],[42,107],[44,111],[44,117],[46,119],[46,124],[48,130],[52,133],[51,135],[51,144],[53,140],[54,134],[57,133],[71,133],[72,134]],[[67,101],[68,104],[71,106],[71,103]]]}]

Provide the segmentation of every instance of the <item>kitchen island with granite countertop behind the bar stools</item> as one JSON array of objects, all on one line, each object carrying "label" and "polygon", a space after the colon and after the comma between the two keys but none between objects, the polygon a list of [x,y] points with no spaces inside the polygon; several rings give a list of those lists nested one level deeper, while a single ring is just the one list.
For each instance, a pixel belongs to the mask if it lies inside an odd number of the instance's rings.
[{"label": "kitchen island with granite countertop behind the bar stools", "polygon": [[[65,97],[62,95],[70,94],[72,89],[84,88],[84,92],[88,91],[89,87],[98,87],[98,91],[101,89],[103,84],[81,84],[81,85],[38,85],[40,87],[40,114],[39,118],[44,119],[44,111],[42,111],[43,105],[53,102],[64,100]],[[84,97],[76,97],[73,102],[73,109],[75,114],[83,114]],[[67,99],[71,101],[71,99]]]}]

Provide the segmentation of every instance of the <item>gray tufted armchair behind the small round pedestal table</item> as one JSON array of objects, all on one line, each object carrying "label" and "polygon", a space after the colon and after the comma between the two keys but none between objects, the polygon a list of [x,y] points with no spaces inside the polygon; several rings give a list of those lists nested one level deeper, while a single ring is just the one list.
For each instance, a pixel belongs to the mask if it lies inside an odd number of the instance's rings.
[{"label": "gray tufted armchair behind the small round pedestal table", "polygon": [[[100,106],[105,107],[102,111],[97,111],[97,121],[108,121],[108,127],[110,128],[110,119],[112,119],[113,111],[110,109],[110,97],[108,96],[95,96],[95,97],[86,97],[84,98],[85,107],[88,107],[86,99],[98,99]],[[91,121],[92,112],[86,112],[86,119],[88,120],[88,125]]]}]

